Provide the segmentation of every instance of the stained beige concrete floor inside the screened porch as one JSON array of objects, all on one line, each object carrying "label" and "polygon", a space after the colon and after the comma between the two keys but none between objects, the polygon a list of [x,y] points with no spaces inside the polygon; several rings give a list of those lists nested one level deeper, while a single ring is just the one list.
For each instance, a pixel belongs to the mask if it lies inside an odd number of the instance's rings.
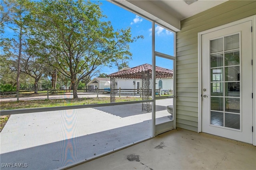
[{"label": "stained beige concrete floor inside the screened porch", "polygon": [[176,129],[68,170],[255,170],[256,147]]}]

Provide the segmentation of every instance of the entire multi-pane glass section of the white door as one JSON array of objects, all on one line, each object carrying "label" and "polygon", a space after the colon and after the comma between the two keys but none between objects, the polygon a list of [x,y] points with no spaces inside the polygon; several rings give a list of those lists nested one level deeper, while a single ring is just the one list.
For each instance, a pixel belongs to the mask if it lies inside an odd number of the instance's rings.
[{"label": "entire multi-pane glass section of the white door", "polygon": [[240,129],[239,33],[210,41],[210,71],[211,124]]}]

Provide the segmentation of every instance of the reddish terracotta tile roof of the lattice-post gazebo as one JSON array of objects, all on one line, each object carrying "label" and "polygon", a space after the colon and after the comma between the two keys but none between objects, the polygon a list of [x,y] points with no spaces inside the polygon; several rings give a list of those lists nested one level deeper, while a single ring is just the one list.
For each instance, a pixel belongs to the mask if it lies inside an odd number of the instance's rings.
[{"label": "reddish terracotta tile roof of the lattice-post gazebo", "polygon": [[[142,74],[144,74],[145,72],[152,74],[152,65],[142,64],[140,66],[130,68],[129,70],[114,72],[108,76],[113,78],[141,79]],[[172,78],[172,77],[173,77],[173,70],[156,66],[156,78]]]}]

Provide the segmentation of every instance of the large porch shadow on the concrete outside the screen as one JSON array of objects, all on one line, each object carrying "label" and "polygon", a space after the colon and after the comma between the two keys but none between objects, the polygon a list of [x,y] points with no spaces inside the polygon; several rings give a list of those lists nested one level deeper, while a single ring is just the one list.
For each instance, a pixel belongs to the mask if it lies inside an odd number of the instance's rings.
[{"label": "large porch shadow on the concrete outside the screen", "polygon": [[[52,170],[152,137],[152,121],[0,154],[1,170]],[[18,139],[17,139],[18,140]],[[2,167],[25,163],[27,167]]]}]

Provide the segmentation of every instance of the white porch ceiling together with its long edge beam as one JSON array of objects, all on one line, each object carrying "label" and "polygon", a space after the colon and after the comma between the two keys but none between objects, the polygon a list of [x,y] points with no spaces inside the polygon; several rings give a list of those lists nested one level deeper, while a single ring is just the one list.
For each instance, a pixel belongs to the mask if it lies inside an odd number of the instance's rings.
[{"label": "white porch ceiling together with its long edge beam", "polygon": [[184,0],[110,0],[173,31],[180,31],[180,20],[225,1],[227,0],[198,0],[188,5]]}]

